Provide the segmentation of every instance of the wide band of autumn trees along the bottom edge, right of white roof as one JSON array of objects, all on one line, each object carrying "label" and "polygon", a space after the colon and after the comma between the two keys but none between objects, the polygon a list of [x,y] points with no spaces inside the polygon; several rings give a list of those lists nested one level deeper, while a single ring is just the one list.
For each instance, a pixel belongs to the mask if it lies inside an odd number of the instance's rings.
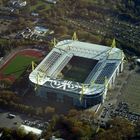
[{"label": "wide band of autumn trees along the bottom edge, right of white roof", "polygon": [[42,137],[46,140],[54,135],[66,140],[133,140],[140,138],[140,124],[114,118],[106,127],[95,123],[93,111],[71,110],[67,116],[55,116]]}]

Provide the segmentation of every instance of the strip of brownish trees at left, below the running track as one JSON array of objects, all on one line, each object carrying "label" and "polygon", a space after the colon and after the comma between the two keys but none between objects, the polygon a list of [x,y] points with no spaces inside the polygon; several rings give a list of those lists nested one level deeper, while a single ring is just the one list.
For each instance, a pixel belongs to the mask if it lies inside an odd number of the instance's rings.
[{"label": "strip of brownish trees at left, below the running track", "polygon": [[0,106],[1,108],[11,111],[25,113],[29,116],[38,116],[51,118],[55,114],[55,108],[51,106],[33,107],[23,103],[23,97],[11,91],[0,92]]}]

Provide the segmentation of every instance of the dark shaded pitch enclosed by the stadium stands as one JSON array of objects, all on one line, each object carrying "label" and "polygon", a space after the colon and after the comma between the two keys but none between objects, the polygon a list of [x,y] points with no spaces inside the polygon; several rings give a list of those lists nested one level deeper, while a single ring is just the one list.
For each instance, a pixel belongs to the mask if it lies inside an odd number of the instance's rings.
[{"label": "dark shaded pitch enclosed by the stadium stands", "polygon": [[98,60],[74,56],[62,70],[63,79],[83,83]]}]

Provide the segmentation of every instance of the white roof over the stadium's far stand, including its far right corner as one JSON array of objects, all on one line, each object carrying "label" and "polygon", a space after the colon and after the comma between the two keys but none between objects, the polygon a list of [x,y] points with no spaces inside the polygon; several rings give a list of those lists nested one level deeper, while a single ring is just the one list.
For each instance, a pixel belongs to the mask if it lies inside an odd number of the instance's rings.
[{"label": "white roof over the stadium's far stand, including its far right corner", "polygon": [[108,59],[122,58],[122,51],[118,48],[111,49],[111,47],[80,41],[64,40],[58,42],[56,48],[69,50],[71,53],[74,53],[75,55],[84,55],[87,58],[94,57],[94,59],[98,60],[103,59],[108,53],[110,53]]}]

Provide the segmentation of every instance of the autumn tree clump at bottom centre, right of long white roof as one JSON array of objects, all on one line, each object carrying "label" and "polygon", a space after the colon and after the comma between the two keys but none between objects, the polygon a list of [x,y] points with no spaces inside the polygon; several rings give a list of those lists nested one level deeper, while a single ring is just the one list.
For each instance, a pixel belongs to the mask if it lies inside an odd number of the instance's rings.
[{"label": "autumn tree clump at bottom centre, right of long white roof", "polygon": [[[51,135],[61,137],[67,140],[85,140],[90,139],[94,134],[92,126],[89,124],[83,111],[71,110],[68,116],[57,116],[53,119],[44,133],[45,138]],[[85,115],[84,114],[84,115]],[[90,114],[91,115],[91,114]]]}]

